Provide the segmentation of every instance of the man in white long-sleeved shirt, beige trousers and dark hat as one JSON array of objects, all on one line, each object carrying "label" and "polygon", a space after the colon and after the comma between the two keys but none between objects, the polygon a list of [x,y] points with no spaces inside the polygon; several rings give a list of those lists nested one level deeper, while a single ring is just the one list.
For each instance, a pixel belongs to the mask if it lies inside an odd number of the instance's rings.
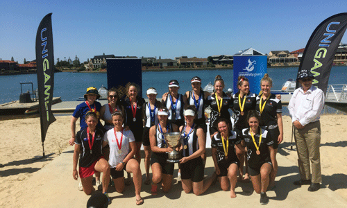
[{"label": "man in white long-sleeved shirt, beige trousers and dark hat", "polygon": [[[321,89],[312,86],[313,73],[303,69],[297,80],[301,87],[294,91],[288,110],[294,125],[294,137],[298,152],[298,168],[301,180],[295,185],[310,184],[308,191],[317,191],[321,187],[321,123],[319,118],[324,106],[324,94]],[[311,161],[311,171],[310,171]],[[312,172],[312,175],[311,175]]]}]

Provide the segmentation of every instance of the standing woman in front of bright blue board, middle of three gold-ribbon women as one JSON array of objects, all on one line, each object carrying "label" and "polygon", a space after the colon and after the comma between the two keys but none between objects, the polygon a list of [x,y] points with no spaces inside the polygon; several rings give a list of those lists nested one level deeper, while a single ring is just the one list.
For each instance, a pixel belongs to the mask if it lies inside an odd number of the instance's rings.
[{"label": "standing woman in front of bright blue board, middle of three gold-ribbon women", "polygon": [[[249,92],[249,82],[248,79],[244,76],[239,76],[237,80],[237,87],[239,88],[239,92],[232,96],[234,100],[234,113],[235,113],[235,132],[237,134],[242,135],[242,129],[248,128],[248,123],[246,116],[249,110],[255,109],[255,99],[256,95],[254,93]],[[242,146],[244,143],[242,141]],[[240,166],[239,166],[239,180],[248,182],[248,165],[246,154],[240,150],[239,148],[235,148],[236,155],[239,158]],[[244,164],[246,166],[246,173],[244,174]]]}]

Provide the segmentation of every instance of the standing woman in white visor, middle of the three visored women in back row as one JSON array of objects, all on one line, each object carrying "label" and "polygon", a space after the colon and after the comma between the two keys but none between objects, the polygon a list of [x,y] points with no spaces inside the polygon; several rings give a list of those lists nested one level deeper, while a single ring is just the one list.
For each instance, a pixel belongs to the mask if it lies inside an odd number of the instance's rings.
[{"label": "standing woman in white visor, middle of the three visored women in back row", "polygon": [[169,93],[162,95],[162,103],[167,109],[169,109],[168,121],[175,123],[178,127],[185,125],[185,119],[183,118],[183,110],[185,103],[187,103],[187,97],[182,94],[178,94],[180,84],[177,80],[170,80]]}]

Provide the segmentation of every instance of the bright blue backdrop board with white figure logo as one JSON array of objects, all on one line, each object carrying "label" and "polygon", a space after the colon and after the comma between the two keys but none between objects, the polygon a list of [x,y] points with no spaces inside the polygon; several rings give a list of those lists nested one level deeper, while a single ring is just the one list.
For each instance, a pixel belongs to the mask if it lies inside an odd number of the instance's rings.
[{"label": "bright blue backdrop board with white figure logo", "polygon": [[259,94],[260,80],[266,71],[266,55],[234,55],[234,93],[239,92],[237,78],[245,76],[249,80],[250,91]]}]

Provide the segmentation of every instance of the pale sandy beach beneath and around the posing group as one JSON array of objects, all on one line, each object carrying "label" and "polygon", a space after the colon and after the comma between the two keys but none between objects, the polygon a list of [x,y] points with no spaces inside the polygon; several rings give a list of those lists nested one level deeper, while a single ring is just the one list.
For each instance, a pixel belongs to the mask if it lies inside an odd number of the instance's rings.
[{"label": "pale sandy beach beneath and around the posing group", "polygon": [[[78,191],[72,178],[72,154],[74,148],[67,144],[71,137],[71,116],[57,116],[46,135],[44,149],[47,159],[35,161],[42,156],[40,119],[15,119],[0,121],[3,138],[0,141],[0,207],[85,207],[89,196]],[[268,207],[347,207],[347,116],[321,116],[321,190],[307,191],[307,186],[295,187],[299,179],[296,147],[291,150],[291,119],[283,116],[285,142],[278,150],[278,177],[276,188],[268,192]],[[79,126],[77,123],[76,126]],[[143,160],[141,164],[144,177]],[[208,157],[205,175],[214,171],[212,157]],[[170,193],[151,196],[151,187],[142,184],[142,207],[237,207],[259,206],[259,198],[251,183],[237,183],[237,198],[230,199],[229,192],[221,191],[218,184],[210,187],[203,196],[186,194],[176,181]],[[133,184],[124,193],[109,188],[112,204],[109,207],[135,207]],[[246,203],[245,203],[246,202]],[[332,204],[333,203],[333,204]]]}]

